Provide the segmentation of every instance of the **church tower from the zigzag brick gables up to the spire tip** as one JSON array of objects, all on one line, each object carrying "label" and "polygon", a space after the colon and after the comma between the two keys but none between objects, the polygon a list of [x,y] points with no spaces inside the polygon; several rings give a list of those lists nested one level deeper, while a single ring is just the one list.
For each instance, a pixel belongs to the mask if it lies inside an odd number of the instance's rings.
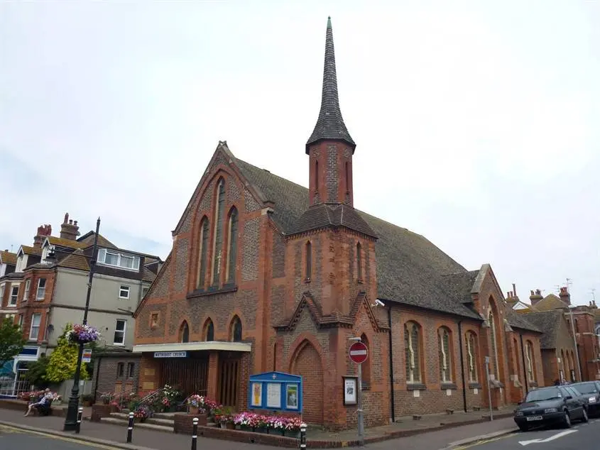
[{"label": "church tower from the zigzag brick gables up to the spire tip", "polygon": [[310,292],[323,314],[350,314],[359,295],[376,296],[377,236],[354,209],[355,148],[339,108],[333,31],[328,18],[321,108],[306,143],[309,198],[288,235],[298,246],[295,253],[302,254],[297,263],[303,266],[303,290]]}]

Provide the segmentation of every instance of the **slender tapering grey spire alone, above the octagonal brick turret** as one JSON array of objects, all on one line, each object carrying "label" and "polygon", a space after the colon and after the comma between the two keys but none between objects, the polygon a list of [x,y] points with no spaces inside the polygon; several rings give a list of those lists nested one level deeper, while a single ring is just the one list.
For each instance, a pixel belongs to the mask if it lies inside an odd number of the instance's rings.
[{"label": "slender tapering grey spire alone, above the octagonal brick turret", "polygon": [[306,154],[309,154],[310,146],[324,140],[343,141],[349,144],[352,153],[354,153],[354,148],[356,148],[356,144],[352,140],[346,124],[344,124],[344,119],[342,119],[342,111],[339,109],[331,17],[327,18],[327,33],[325,35],[325,64],[323,68],[321,109],[315,129],[306,143]]}]

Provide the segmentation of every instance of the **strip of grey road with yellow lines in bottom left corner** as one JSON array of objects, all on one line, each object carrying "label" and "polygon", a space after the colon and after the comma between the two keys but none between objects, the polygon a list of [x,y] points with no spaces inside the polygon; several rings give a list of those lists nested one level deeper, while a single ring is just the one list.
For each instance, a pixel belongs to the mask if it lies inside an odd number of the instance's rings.
[{"label": "strip of grey road with yellow lines in bottom left corner", "polygon": [[75,439],[54,437],[43,433],[25,432],[0,425],[0,449],[2,450],[116,450],[116,447],[87,444]]}]

